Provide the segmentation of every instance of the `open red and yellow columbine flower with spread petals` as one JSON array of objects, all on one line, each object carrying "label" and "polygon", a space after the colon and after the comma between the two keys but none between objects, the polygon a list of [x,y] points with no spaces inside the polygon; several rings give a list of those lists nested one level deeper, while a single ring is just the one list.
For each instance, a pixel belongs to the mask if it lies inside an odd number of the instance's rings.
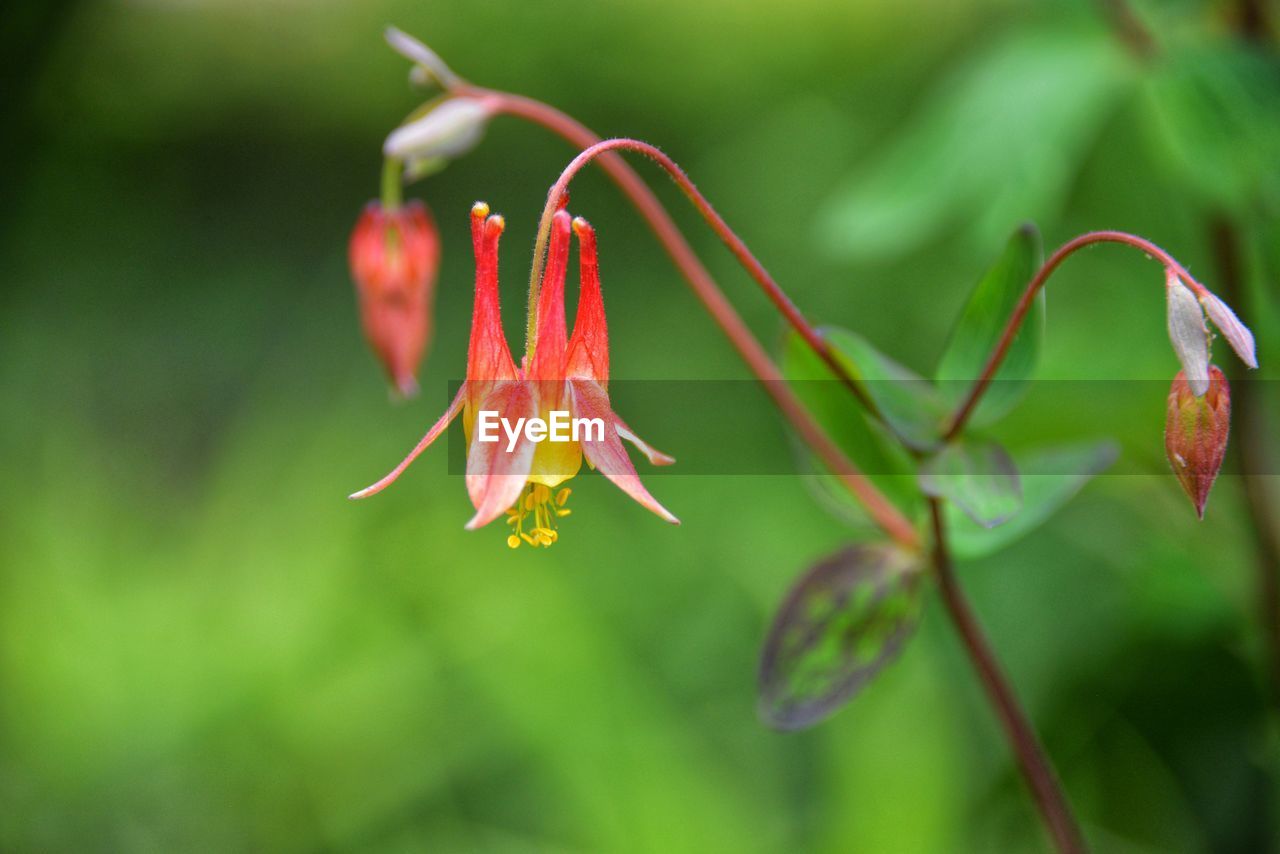
[{"label": "open red and yellow columbine flower with spread petals", "polygon": [[[467,440],[467,494],[476,508],[467,529],[488,525],[506,513],[513,530],[507,538],[508,545],[517,548],[522,542],[550,545],[558,538],[558,520],[570,513],[564,507],[570,490],[557,490],[557,487],[577,474],[584,456],[588,465],[599,469],[640,504],[678,524],[640,483],[622,439],[631,442],[654,465],[669,465],[675,460],[636,437],[609,403],[609,341],[595,232],[581,218],[571,222],[563,210],[553,218],[547,269],[534,315],[534,341],[517,366],[502,330],[498,305],[502,229],[502,216],[490,216],[488,205],[477,202],[471,209],[476,297],[466,382],[417,447],[390,474],[352,498],[365,498],[388,487],[461,412]],[[564,273],[571,229],[579,239],[580,294],[573,335],[568,338]],[[582,430],[579,440],[572,442],[535,442],[521,433],[508,443],[507,437],[499,437],[498,442],[481,440],[476,425],[480,412],[497,412],[508,424],[516,424],[518,419],[535,416],[548,420],[553,411],[568,412],[571,419],[598,420],[603,430]]]}]

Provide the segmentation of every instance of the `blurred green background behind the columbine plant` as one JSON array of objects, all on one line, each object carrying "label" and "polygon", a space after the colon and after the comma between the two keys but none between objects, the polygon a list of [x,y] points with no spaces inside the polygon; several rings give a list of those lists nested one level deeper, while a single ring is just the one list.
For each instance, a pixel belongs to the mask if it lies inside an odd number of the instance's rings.
[{"label": "blurred green background behind the columbine plant", "polygon": [[[806,311],[922,373],[1030,219],[1048,246],[1140,233],[1211,287],[1229,234],[1275,378],[1280,78],[1274,36],[1243,45],[1251,5],[1139,4],[1147,50],[1106,3],[8,4],[0,849],[1043,850],[933,600],[828,723],[758,722],[773,608],[869,535],[801,478],[650,478],[678,529],[580,478],[540,553],[462,530],[444,448],[344,501],[462,371],[470,204],[507,215],[515,335],[536,213],[572,155],[498,119],[410,191],[444,259],[424,394],[392,405],[346,269],[381,140],[420,97],[380,33],[660,145]],[[573,200],[600,233],[616,375],[746,378],[614,188],[585,174]],[[1161,283],[1125,250],[1073,260],[1042,375],[1167,380]],[[1087,834],[1271,848],[1280,752],[1239,479],[1197,522],[1161,410],[1028,406],[997,433],[1010,447],[1115,437],[1125,476],[961,580]],[[662,411],[626,417],[687,453]],[[724,429],[787,452],[767,407]]]}]

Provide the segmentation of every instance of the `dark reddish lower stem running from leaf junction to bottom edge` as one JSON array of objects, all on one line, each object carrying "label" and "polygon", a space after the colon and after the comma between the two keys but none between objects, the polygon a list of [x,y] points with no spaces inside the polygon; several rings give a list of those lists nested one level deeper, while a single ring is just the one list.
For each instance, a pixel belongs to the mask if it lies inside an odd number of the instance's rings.
[{"label": "dark reddish lower stem running from leaf junction to bottom edge", "polygon": [[938,588],[947,615],[951,617],[960,640],[964,641],[969,661],[987,691],[987,698],[1005,730],[1005,737],[1018,757],[1019,768],[1027,780],[1027,786],[1032,790],[1044,826],[1053,837],[1053,844],[1057,850],[1064,853],[1084,851],[1087,850],[1084,837],[1080,835],[1071,807],[1068,804],[1048,757],[1044,754],[1044,748],[1036,737],[1036,731],[1032,730],[1027,713],[1023,712],[1009,680],[1001,672],[982,627],[969,607],[969,600],[965,599],[964,592],[956,581],[951,553],[947,549],[942,504],[937,498],[929,498],[929,513],[933,520],[933,566],[937,571]]}]

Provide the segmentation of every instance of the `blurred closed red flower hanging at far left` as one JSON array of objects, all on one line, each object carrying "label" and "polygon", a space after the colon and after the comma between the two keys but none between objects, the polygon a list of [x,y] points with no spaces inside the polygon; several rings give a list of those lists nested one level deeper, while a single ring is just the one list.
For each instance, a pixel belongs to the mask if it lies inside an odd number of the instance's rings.
[{"label": "blurred closed red flower hanging at far left", "polygon": [[351,275],[365,337],[401,394],[417,393],[417,366],[431,337],[440,238],[420,201],[369,202],[351,234]]}]

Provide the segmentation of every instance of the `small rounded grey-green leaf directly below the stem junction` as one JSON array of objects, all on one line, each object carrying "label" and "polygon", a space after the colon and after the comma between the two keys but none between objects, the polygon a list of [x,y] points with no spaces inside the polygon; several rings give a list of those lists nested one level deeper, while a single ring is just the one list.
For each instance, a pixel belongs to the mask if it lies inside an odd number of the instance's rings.
[{"label": "small rounded grey-green leaf directly below the stem junction", "polygon": [[1012,519],[1023,507],[1018,469],[995,442],[960,439],[924,461],[920,490],[946,498],[982,528]]}]

